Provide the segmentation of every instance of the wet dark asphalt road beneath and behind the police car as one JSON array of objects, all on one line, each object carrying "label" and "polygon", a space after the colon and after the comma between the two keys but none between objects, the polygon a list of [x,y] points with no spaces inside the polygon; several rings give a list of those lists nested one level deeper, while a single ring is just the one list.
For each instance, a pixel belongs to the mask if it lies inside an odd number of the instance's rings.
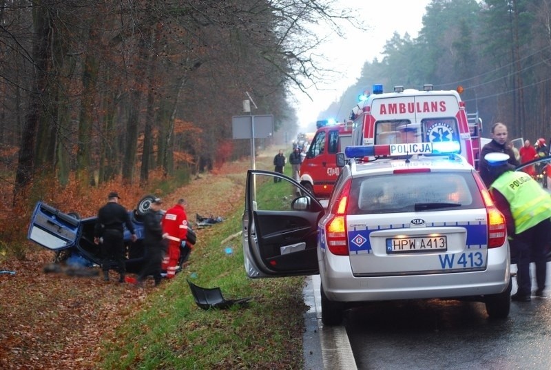
[{"label": "wet dark asphalt road beneath and behind the police car", "polygon": [[357,369],[551,369],[550,263],[547,281],[547,298],[511,302],[509,318],[501,321],[489,320],[480,302],[377,302],[351,309],[344,327]]}]

